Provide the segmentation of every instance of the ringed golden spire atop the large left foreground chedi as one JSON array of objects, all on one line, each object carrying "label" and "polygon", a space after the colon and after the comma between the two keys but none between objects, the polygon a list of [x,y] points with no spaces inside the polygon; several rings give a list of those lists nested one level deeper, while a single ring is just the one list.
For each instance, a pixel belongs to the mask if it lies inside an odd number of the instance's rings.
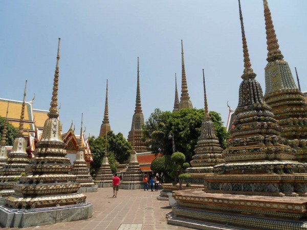
[{"label": "ringed golden spire atop the large left foreground chedi", "polygon": [[53,92],[52,92],[52,100],[50,103],[50,109],[48,113],[49,118],[57,118],[59,116],[58,109],[57,109],[57,91],[58,91],[58,81],[59,81],[59,60],[60,60],[60,40],[58,43],[58,52],[56,57],[56,66],[55,66],[55,74],[53,80]]}]

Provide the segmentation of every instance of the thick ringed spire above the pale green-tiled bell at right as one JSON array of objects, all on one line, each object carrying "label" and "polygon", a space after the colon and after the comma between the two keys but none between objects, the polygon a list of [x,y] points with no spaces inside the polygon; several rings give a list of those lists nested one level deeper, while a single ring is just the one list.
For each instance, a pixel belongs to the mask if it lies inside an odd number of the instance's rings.
[{"label": "thick ringed spire above the pale green-tiled bell at right", "polygon": [[267,34],[267,45],[268,45],[268,58],[267,61],[274,61],[274,60],[282,60],[283,55],[279,50],[278,40],[275,34],[273,21],[271,17],[271,12],[268,6],[267,0],[264,1],[264,8],[265,8],[265,21],[266,21],[266,34]]}]

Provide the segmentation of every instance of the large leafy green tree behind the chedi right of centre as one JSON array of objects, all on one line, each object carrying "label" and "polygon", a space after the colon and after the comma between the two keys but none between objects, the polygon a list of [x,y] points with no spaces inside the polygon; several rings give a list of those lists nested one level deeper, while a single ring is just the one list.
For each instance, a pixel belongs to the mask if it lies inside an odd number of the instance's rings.
[{"label": "large leafy green tree behind the chedi right of centre", "polygon": [[[222,118],[217,112],[210,112],[216,136],[223,148],[229,133],[223,126]],[[190,162],[194,148],[198,142],[201,125],[204,118],[204,109],[181,109],[179,112],[161,111],[155,109],[143,127],[142,141],[148,146],[149,151],[163,155],[172,154],[172,143],[168,139],[173,135],[176,151],[183,152],[186,162]]]}]

